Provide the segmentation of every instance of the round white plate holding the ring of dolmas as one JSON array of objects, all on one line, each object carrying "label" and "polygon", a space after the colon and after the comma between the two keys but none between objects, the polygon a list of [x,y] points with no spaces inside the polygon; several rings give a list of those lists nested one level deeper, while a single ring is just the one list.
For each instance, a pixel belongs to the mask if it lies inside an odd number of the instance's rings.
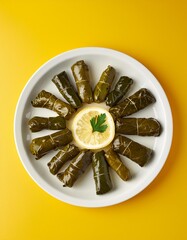
[{"label": "round white plate holding the ring of dolmas", "polygon": [[[67,71],[72,83],[74,82],[71,69],[73,63],[83,59],[88,64],[91,75],[92,87],[98,81],[100,74],[107,67],[112,65],[117,75],[127,75],[134,80],[134,84],[128,92],[131,95],[139,88],[149,89],[156,98],[156,103],[148,106],[146,109],[133,114],[134,117],[155,117],[162,124],[162,134],[159,137],[140,137],[129,136],[133,140],[154,149],[153,159],[145,167],[141,168],[136,163],[123,157],[124,163],[129,167],[132,173],[130,181],[122,181],[118,175],[110,170],[113,182],[113,190],[107,194],[97,196],[95,194],[95,185],[91,167],[84,175],[77,180],[72,188],[63,188],[62,183],[49,173],[47,162],[56,154],[51,152],[36,161],[29,152],[29,143],[32,138],[51,133],[44,130],[39,133],[31,133],[27,122],[31,117],[38,116],[56,116],[56,114],[47,109],[33,108],[31,100],[45,89],[57,97],[62,96],[56,86],[51,82],[52,77],[65,70]],[[74,84],[74,83],[73,83]],[[14,136],[20,159],[32,177],[32,179],[46,192],[55,198],[77,206],[84,207],[103,207],[123,202],[146,188],[160,172],[168,156],[172,141],[172,115],[171,109],[157,79],[141,63],[129,57],[126,54],[106,49],[106,48],[80,48],[62,53],[40,67],[30,78],[19,98],[14,122]]]}]

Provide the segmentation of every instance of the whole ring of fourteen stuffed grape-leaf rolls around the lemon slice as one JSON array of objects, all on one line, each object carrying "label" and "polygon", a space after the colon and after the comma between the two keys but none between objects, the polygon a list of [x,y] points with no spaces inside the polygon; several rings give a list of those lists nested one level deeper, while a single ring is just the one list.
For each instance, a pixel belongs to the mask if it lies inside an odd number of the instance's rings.
[{"label": "whole ring of fourteen stuffed grape-leaf rolls around the lemon slice", "polygon": [[[91,165],[96,194],[105,194],[113,187],[110,169],[123,181],[131,179],[130,169],[125,166],[120,155],[127,157],[140,167],[146,166],[151,160],[154,154],[152,149],[124,135],[153,137],[160,135],[161,124],[157,119],[127,117],[155,103],[156,99],[146,88],[141,88],[126,97],[126,93],[134,83],[134,80],[128,76],[121,76],[110,91],[116,75],[116,70],[110,65],[101,73],[93,90],[90,84],[89,67],[85,61],[79,60],[74,63],[71,71],[76,89],[65,71],[57,73],[52,78],[52,82],[67,102],[45,90],[31,101],[33,107],[47,108],[59,116],[49,118],[34,116],[29,120],[28,126],[33,133],[43,129],[58,130],[52,134],[34,138],[30,143],[30,152],[38,160],[49,151],[58,149],[57,154],[47,163],[47,166],[49,172],[56,175],[62,182],[63,187],[72,187]],[[94,152],[90,149],[79,149],[71,143],[74,139],[71,130],[66,126],[66,121],[73,118],[74,113],[83,104],[85,107],[85,104],[104,101],[109,106],[109,112],[115,122],[115,137],[112,144]],[[92,120],[90,120],[91,125],[94,124]],[[96,127],[98,128],[95,125]],[[104,129],[102,128],[102,131]],[[69,165],[63,169],[67,162],[70,162]]]}]

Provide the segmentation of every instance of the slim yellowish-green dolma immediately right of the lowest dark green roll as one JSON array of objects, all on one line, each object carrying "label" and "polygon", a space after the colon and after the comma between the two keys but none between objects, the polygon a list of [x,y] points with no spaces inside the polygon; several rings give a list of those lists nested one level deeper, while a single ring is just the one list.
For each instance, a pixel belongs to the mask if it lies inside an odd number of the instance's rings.
[{"label": "slim yellowish-green dolma immediately right of the lowest dark green roll", "polygon": [[109,166],[119,175],[119,177],[127,181],[130,178],[130,171],[129,169],[123,164],[120,159],[120,156],[110,148],[105,153],[106,160]]}]

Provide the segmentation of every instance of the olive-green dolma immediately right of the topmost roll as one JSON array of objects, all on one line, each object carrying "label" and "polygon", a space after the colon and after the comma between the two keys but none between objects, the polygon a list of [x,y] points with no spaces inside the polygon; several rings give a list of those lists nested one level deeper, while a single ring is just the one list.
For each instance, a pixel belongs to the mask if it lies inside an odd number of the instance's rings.
[{"label": "olive-green dolma immediately right of the topmost roll", "polygon": [[102,73],[99,82],[94,89],[94,102],[103,102],[110,91],[115,77],[115,69],[110,65]]}]

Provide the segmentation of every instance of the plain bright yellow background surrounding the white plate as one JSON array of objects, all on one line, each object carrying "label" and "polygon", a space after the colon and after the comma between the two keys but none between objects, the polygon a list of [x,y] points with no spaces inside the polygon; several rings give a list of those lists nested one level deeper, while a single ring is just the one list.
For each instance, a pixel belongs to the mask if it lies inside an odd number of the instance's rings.
[{"label": "plain bright yellow background surrounding the white plate", "polygon": [[[107,208],[65,204],[19,160],[13,118],[29,77],[64,51],[100,46],[135,57],[169,98],[174,137],[158,177]],[[0,239],[187,239],[187,1],[0,1]]]}]

